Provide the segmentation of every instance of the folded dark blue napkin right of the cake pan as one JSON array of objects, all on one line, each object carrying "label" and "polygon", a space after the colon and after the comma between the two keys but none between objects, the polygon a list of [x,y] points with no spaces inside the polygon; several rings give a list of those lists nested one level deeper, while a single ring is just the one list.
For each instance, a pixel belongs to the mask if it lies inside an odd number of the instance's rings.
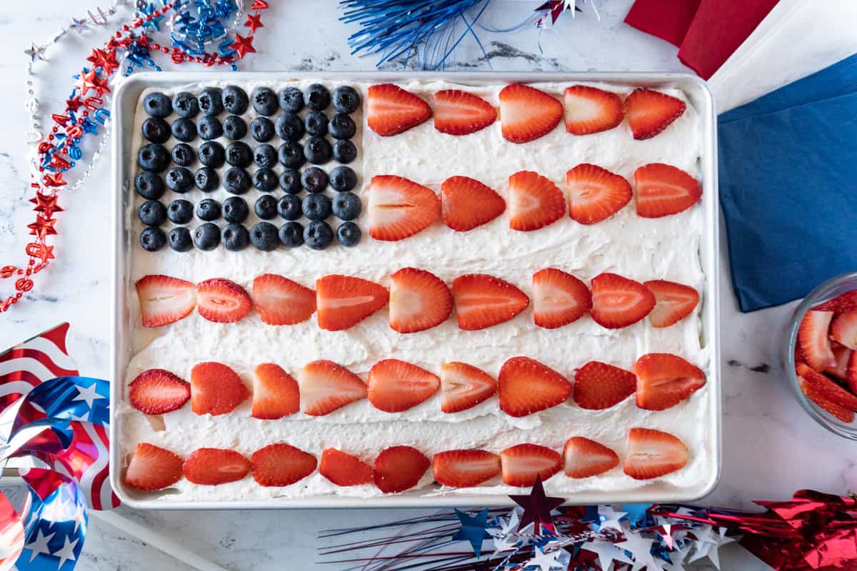
[{"label": "folded dark blue napkin right of the cake pan", "polygon": [[741,311],[857,271],[857,56],[720,116],[720,201]]}]

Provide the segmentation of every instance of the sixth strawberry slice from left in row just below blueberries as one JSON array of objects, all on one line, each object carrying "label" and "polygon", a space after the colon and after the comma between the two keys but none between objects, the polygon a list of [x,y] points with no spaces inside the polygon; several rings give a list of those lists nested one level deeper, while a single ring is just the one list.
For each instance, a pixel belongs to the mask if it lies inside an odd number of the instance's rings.
[{"label": "sixth strawberry slice from left in row just below blueberries", "polygon": [[452,282],[458,328],[479,330],[508,321],[530,305],[523,291],[487,274],[467,274]]}]

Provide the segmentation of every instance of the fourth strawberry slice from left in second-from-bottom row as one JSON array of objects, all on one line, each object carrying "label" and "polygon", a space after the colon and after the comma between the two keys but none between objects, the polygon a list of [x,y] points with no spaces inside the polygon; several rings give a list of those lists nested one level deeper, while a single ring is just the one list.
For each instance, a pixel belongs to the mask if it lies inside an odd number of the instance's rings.
[{"label": "fourth strawberry slice from left in second-from-bottom row", "polygon": [[301,392],[301,409],[310,416],[324,416],[366,398],[363,380],[333,361],[307,363],[297,373],[297,384]]}]

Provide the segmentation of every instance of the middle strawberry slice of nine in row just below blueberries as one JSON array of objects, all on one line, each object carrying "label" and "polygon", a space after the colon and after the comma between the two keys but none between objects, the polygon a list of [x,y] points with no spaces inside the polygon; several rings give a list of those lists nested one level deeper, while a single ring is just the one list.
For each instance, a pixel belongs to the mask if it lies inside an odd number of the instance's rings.
[{"label": "middle strawberry slice of nine in row just below blueberries", "polygon": [[440,277],[402,268],[390,277],[390,327],[415,333],[439,325],[452,313],[452,292]]}]

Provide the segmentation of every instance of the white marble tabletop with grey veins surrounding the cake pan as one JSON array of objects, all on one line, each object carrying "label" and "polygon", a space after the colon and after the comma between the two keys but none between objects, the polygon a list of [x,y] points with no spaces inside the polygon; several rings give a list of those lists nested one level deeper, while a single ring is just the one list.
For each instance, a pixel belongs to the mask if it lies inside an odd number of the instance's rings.
[{"label": "white marble tabletop with grey veins surrounding the cake pan", "polygon": [[[259,51],[244,69],[358,70],[371,69],[372,58],[349,55],[345,37],[353,27],[337,21],[333,0],[271,2],[266,28],[255,43]],[[486,22],[509,25],[532,2],[494,0]],[[602,21],[586,12],[572,21],[564,16],[554,31],[543,33],[543,55],[530,27],[514,34],[482,33],[495,69],[508,70],[685,70],[675,48],[622,23],[631,0],[602,0]],[[22,50],[30,42],[44,43],[58,27],[81,16],[88,2],[56,0],[5,2],[0,6],[0,46],[3,59],[3,105],[0,115],[0,264],[21,263],[24,228],[32,220],[27,202],[30,188],[22,133],[24,89]],[[75,9],[74,12],[71,10]],[[312,30],[307,33],[307,30]],[[100,40],[99,40],[100,39]],[[59,110],[68,92],[69,75],[76,72],[88,49],[105,39],[104,31],[72,35],[62,46],[47,51],[50,65],[36,66],[39,97],[48,104],[43,116]],[[830,61],[832,62],[832,61]],[[818,62],[818,68],[830,63]],[[486,68],[476,48],[458,51],[452,68]],[[400,66],[401,63],[397,62]],[[110,186],[108,160],[93,180],[75,193],[63,194],[57,227],[57,262],[36,278],[27,302],[0,316],[0,347],[45,330],[59,320],[72,324],[69,348],[81,371],[93,376],[108,372],[110,338],[106,300],[110,295],[108,244]],[[725,245],[723,247],[725,253]],[[770,347],[789,308],[750,315],[737,310],[723,261],[722,360],[723,470],[720,485],[704,503],[748,507],[756,499],[785,499],[809,487],[844,493],[857,490],[854,444],[816,425],[788,392]],[[6,294],[9,283],[0,281]],[[135,512],[122,509],[130,520],[180,538],[191,550],[231,569],[307,568],[316,560],[316,532],[333,526],[358,526],[415,514],[373,510],[347,513],[321,510],[261,512]],[[81,569],[184,569],[187,566],[152,546],[117,531],[99,520],[91,530]],[[334,567],[329,567],[334,568]],[[706,568],[706,567],[700,567]],[[724,550],[722,568],[754,571],[765,568],[740,548]]]}]

